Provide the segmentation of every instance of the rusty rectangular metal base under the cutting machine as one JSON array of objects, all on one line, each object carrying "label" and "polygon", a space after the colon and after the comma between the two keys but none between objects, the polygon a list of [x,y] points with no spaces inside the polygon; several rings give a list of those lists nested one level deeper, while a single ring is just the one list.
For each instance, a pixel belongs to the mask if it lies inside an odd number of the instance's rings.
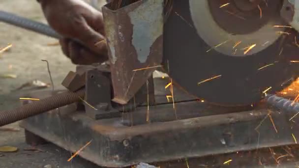
[{"label": "rusty rectangular metal base under the cutting machine", "polygon": [[[163,106],[159,105],[156,109],[163,109]],[[136,126],[123,125],[124,118],[94,120],[84,112],[72,109],[61,108],[60,118],[57,110],[30,117],[22,122],[22,126],[73,152],[92,140],[79,155],[105,167],[288,145],[295,143],[292,134],[299,136],[299,132],[295,131],[299,128],[296,124],[298,118],[295,123],[289,121],[294,113],[270,109],[223,114],[211,112],[208,116]],[[167,109],[173,113],[173,109]],[[205,109],[205,106],[194,110],[199,109]],[[147,111],[147,108],[140,110]],[[178,110],[192,111],[186,108]],[[267,118],[269,114],[271,119]],[[65,135],[58,127],[61,124]]]}]

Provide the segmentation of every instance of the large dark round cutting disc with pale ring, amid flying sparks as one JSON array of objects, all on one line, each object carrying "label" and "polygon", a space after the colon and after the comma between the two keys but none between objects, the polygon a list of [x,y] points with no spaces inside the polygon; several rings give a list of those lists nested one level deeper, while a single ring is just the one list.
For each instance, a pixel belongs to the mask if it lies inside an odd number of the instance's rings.
[{"label": "large dark round cutting disc with pale ring, amid flying sparks", "polygon": [[175,84],[219,105],[250,105],[295,75],[281,55],[281,0],[174,0],[163,65]]}]

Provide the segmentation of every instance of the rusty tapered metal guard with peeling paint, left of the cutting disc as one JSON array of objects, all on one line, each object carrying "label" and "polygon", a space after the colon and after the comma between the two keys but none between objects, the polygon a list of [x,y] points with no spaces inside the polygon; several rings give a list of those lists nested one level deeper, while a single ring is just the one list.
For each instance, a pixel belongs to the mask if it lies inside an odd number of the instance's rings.
[{"label": "rusty tapered metal guard with peeling paint, left of the cutting disc", "polygon": [[163,53],[163,0],[140,0],[118,10],[103,7],[113,101],[126,104],[159,66]]}]

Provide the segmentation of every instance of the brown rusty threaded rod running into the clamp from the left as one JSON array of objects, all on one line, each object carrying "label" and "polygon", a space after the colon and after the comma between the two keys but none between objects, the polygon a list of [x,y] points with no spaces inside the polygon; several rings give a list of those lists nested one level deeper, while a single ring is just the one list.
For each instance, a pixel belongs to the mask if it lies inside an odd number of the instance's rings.
[{"label": "brown rusty threaded rod running into the clamp from the left", "polygon": [[66,91],[39,101],[25,104],[14,110],[2,111],[0,112],[0,127],[33,115],[78,102],[80,101],[80,98],[84,98],[84,95],[85,89],[76,92]]}]

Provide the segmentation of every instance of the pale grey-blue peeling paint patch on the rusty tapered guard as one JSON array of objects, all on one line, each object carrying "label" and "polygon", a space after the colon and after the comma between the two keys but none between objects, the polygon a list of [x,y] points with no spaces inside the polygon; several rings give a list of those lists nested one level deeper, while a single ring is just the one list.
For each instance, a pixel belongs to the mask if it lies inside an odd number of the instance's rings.
[{"label": "pale grey-blue peeling paint patch on the rusty tapered guard", "polygon": [[128,13],[133,25],[132,45],[141,63],[147,61],[150,47],[163,33],[163,0],[144,0]]}]

